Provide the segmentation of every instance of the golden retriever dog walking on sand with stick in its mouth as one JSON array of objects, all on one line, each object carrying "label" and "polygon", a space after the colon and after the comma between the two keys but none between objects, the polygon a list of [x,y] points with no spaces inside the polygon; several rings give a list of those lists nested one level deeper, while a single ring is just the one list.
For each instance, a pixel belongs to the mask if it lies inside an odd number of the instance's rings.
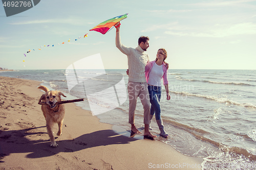
[{"label": "golden retriever dog walking on sand with stick in its mouth", "polygon": [[61,135],[62,123],[65,115],[65,108],[64,105],[56,105],[55,103],[61,101],[60,95],[65,95],[60,91],[49,91],[49,89],[45,86],[39,86],[37,88],[44,90],[46,92],[45,94],[42,94],[38,104],[40,104],[41,102],[46,102],[48,104],[42,105],[41,110],[46,118],[47,133],[51,140],[50,147],[57,147],[58,144],[55,142],[52,128],[54,123],[57,123],[59,126],[57,135]]}]

